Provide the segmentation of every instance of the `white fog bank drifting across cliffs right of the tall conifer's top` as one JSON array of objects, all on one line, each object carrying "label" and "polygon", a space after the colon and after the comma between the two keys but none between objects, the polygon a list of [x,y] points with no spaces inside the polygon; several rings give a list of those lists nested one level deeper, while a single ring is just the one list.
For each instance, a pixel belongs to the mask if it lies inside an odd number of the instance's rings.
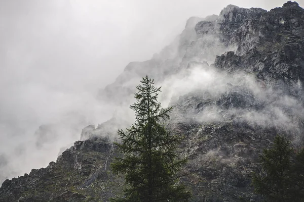
[{"label": "white fog bank drifting across cliffs right of the tall conifer's top", "polygon": [[[235,117],[236,120],[245,121],[253,126],[276,126],[282,131],[294,132],[298,122],[293,117],[303,117],[304,114],[300,101],[295,97],[283,95],[284,93],[274,89],[272,84],[260,82],[254,75],[245,72],[227,73],[213,66],[195,65],[166,79],[161,86],[162,104],[172,106],[183,103],[186,107],[182,112],[176,113],[174,120],[178,122],[196,120],[200,123],[214,123]],[[225,109],[214,102],[230,93],[238,93],[241,96],[239,102],[245,100],[247,106]],[[187,96],[194,99],[188,99]],[[227,99],[224,97],[224,100]],[[192,107],[187,109],[184,102],[191,102],[187,104]],[[197,106],[201,102],[203,107],[199,109]],[[237,100],[234,100],[233,104],[238,105]],[[179,107],[176,108],[178,111]]]}]

